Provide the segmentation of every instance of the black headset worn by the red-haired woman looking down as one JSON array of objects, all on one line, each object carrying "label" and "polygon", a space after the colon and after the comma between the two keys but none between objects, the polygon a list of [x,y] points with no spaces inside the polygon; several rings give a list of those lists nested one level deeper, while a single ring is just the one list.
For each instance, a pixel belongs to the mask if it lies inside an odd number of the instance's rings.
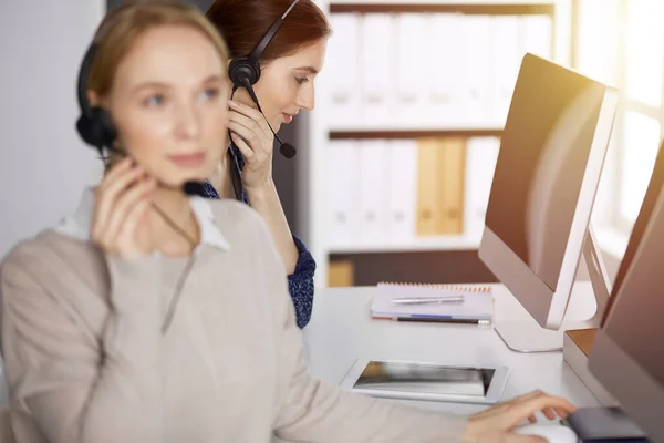
[{"label": "black headset worn by the red-haired woman looking down", "polygon": [[[290,11],[294,8],[294,6],[300,0],[293,0],[293,2],[290,4],[290,7],[288,7],[286,12],[280,18],[278,18],[272,23],[272,25],[270,25],[270,28],[268,29],[268,32],[266,32],[263,38],[256,45],[256,48],[253,48],[253,50],[251,51],[251,53],[249,55],[238,56],[237,59],[234,59],[230,62],[230,65],[228,66],[228,76],[230,78],[230,81],[234,84],[232,94],[235,94],[235,92],[237,91],[238,87],[245,87],[247,90],[247,92],[249,93],[249,95],[251,96],[251,100],[253,101],[253,103],[256,103],[256,105],[258,106],[258,111],[260,111],[261,114],[263,114],[263,112],[260,107],[260,103],[258,103],[258,97],[256,96],[256,93],[253,92],[253,85],[260,79],[259,60],[262,56],[262,53],[264,52],[268,44],[270,44],[270,41],[272,41],[272,39],[277,34],[277,32],[279,31],[279,28],[281,28],[281,24],[283,24],[283,20],[286,19],[286,17],[290,13]],[[232,99],[232,94],[231,94],[231,99]],[[263,114],[263,117],[264,117],[264,115],[266,114]],[[267,121],[267,119],[266,119],[266,121]],[[270,131],[272,131],[272,134],[274,134],[274,137],[277,138],[277,141],[279,141],[279,144],[280,144],[279,152],[281,153],[281,155],[283,155],[286,158],[292,158],[298,152],[295,150],[295,147],[293,145],[291,145],[290,143],[283,143],[281,141],[281,138],[279,138],[279,136],[277,135],[274,130],[272,130],[270,122],[268,122],[268,126],[270,127]]]}]

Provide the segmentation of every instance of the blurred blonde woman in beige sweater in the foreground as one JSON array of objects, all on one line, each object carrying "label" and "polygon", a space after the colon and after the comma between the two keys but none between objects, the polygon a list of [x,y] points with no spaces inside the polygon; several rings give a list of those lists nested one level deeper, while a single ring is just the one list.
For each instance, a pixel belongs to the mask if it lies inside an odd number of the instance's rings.
[{"label": "blurred blonde woman in beige sweater in the foreground", "polygon": [[2,264],[17,442],[535,442],[510,430],[573,410],[532,393],[464,418],[312,379],[263,219],[180,190],[228,143],[217,31],[193,9],[144,1],[107,17],[95,43],[89,99],[125,157]]}]

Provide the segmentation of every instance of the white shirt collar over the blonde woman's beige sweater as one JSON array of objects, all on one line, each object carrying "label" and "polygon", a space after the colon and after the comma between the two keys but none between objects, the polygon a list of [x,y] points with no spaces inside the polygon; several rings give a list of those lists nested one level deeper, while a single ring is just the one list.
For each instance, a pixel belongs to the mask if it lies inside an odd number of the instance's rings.
[{"label": "white shirt collar over the blonde woman's beige sweater", "polygon": [[[221,250],[230,249],[230,244],[215,223],[215,214],[210,203],[198,196],[189,198],[191,210],[200,227],[200,244],[215,246]],[[89,240],[92,228],[92,212],[94,209],[94,190],[85,188],[76,212],[64,217],[55,230],[81,240]]]}]

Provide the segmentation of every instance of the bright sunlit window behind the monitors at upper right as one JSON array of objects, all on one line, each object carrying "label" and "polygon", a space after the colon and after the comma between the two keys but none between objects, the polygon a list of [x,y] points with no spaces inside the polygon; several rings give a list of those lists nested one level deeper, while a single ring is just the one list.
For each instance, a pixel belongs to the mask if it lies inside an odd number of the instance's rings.
[{"label": "bright sunlit window behind the monitors at upper right", "polygon": [[575,0],[574,12],[574,68],[621,93],[601,223],[629,235],[664,124],[664,1]]}]

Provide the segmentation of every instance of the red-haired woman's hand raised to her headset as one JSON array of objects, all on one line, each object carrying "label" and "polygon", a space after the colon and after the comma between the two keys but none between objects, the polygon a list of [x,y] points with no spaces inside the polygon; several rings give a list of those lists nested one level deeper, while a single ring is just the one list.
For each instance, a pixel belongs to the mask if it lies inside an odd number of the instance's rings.
[{"label": "red-haired woman's hand raised to her headset", "polygon": [[245,155],[242,185],[247,190],[269,186],[272,183],[272,151],[274,135],[266,117],[251,106],[229,101],[231,138]]}]

